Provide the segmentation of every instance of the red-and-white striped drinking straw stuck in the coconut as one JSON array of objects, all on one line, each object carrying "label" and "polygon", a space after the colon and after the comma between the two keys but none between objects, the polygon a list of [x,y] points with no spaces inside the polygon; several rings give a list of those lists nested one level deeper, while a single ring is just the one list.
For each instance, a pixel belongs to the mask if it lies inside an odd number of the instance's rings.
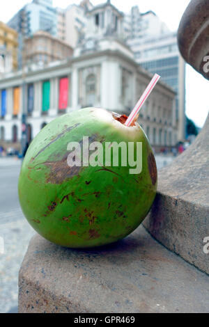
[{"label": "red-and-white striped drinking straw stuck in the coconut", "polygon": [[141,97],[140,97],[139,101],[137,102],[136,106],[134,106],[134,109],[132,110],[129,117],[127,118],[127,120],[125,122],[125,126],[130,126],[132,124],[132,122],[134,121],[134,118],[136,117],[137,113],[139,113],[139,110],[143,106],[144,102],[146,102],[146,99],[148,98],[148,96],[152,92],[153,88],[155,88],[155,85],[157,84],[159,79],[160,79],[160,75],[155,74],[153,79],[150,81],[148,87],[144,91],[143,95],[141,95]]}]

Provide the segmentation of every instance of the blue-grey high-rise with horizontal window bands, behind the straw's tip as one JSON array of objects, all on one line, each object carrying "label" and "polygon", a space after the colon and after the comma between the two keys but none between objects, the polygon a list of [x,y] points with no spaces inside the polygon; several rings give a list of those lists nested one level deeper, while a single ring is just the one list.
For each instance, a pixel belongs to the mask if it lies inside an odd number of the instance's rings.
[{"label": "blue-grey high-rise with horizontal window bands, behind the straw's tip", "polygon": [[185,140],[185,61],[178,51],[176,33],[151,38],[128,40],[134,58],[152,74],[160,74],[162,81],[176,91],[176,119],[178,141]]}]

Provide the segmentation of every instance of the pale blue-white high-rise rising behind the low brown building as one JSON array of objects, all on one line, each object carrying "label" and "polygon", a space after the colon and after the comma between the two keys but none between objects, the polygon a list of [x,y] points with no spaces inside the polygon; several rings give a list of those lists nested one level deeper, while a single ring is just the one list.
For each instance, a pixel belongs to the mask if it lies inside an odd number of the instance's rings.
[{"label": "pale blue-white high-rise rising behind the low brown building", "polygon": [[18,66],[22,67],[24,38],[29,38],[40,30],[53,36],[57,35],[57,14],[52,0],[33,0],[26,4],[10,19],[8,26],[18,33]]}]

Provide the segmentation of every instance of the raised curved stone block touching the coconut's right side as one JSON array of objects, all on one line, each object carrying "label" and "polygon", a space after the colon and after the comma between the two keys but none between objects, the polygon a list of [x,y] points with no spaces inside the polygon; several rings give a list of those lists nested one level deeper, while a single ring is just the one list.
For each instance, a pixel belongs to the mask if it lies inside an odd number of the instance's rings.
[{"label": "raised curved stone block touching the coconut's right side", "polygon": [[160,170],[158,193],[144,226],[164,246],[209,273],[209,116],[196,141]]}]

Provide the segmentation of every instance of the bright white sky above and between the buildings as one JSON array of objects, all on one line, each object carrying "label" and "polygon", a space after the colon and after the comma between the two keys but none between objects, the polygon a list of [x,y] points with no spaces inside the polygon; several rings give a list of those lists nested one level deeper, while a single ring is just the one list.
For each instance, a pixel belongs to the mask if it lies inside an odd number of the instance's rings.
[{"label": "bright white sky above and between the buildings", "polygon": [[[0,10],[0,21],[8,20],[17,13],[29,0],[6,0],[3,1]],[[105,2],[104,0],[92,0],[93,5]],[[66,8],[72,3],[80,3],[80,0],[54,0],[54,6]],[[123,12],[129,12],[132,6],[139,6],[144,13],[153,10],[160,19],[167,24],[171,31],[178,29],[180,19],[187,8],[189,0],[111,0],[111,3]],[[186,67],[186,113],[188,118],[194,120],[197,126],[202,127],[208,115],[208,90],[209,81],[187,65]]]}]

